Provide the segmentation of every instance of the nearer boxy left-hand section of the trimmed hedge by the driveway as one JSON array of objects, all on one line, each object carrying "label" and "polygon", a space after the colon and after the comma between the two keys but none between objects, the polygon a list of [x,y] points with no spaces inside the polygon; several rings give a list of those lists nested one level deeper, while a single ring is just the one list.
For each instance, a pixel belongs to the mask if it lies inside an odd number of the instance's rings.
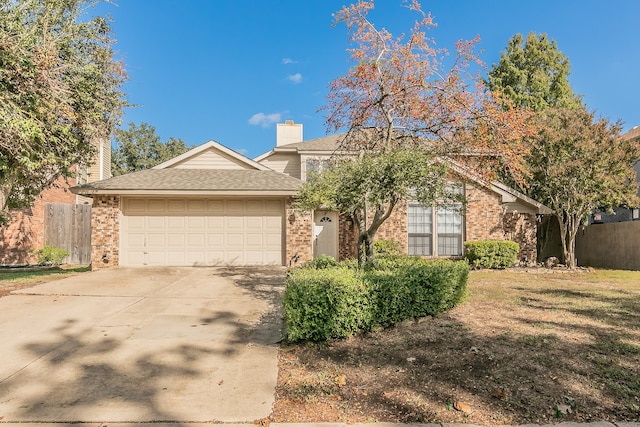
[{"label": "nearer boxy left-hand section of the trimmed hedge by the driveway", "polygon": [[284,317],[289,341],[344,338],[370,327],[367,289],[357,270],[298,268],[287,278]]}]

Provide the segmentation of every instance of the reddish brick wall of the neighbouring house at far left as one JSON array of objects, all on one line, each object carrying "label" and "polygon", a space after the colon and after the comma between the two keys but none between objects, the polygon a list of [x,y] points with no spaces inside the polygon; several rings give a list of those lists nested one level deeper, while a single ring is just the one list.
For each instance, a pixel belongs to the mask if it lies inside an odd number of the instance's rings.
[{"label": "reddish brick wall of the neighbouring house at far left", "polygon": [[75,204],[76,196],[69,191],[75,180],[58,179],[44,190],[33,206],[10,212],[6,226],[0,227],[0,265],[35,263],[32,250],[44,246],[44,218],[47,203]]}]

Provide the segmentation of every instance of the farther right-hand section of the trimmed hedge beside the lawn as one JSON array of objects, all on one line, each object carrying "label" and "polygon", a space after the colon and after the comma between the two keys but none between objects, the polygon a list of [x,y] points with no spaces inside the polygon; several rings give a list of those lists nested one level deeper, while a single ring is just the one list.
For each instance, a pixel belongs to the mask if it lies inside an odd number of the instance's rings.
[{"label": "farther right-hand section of the trimmed hedge beside the lawn", "polygon": [[370,270],[365,280],[374,306],[373,324],[442,313],[466,295],[469,266],[464,261],[396,258],[394,265]]}]

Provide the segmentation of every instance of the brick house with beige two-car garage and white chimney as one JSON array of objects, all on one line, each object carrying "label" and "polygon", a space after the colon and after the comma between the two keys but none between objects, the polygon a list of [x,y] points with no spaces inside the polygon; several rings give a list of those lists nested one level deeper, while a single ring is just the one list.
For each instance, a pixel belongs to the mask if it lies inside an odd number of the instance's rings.
[{"label": "brick house with beige two-car garage and white chimney", "polygon": [[[336,152],[340,135],[303,141],[302,125],[277,125],[276,146],[249,159],[215,141],[153,169],[72,188],[93,198],[93,268],[294,265],[327,254],[355,257],[345,215],[299,212],[294,197],[310,170]],[[467,240],[510,239],[536,261],[536,216],[546,208],[500,184],[464,179],[464,212],[404,203],[377,238],[409,254],[460,256]]]}]

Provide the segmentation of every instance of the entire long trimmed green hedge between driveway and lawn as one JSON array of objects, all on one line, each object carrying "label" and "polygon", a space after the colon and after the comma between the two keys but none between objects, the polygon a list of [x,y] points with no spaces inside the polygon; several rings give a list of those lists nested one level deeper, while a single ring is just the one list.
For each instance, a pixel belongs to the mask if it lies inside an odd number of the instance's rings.
[{"label": "entire long trimmed green hedge between driveway and lawn", "polygon": [[284,295],[287,339],[345,338],[374,326],[441,313],[466,294],[465,261],[416,257],[381,261],[368,270],[343,264],[293,270]]}]

